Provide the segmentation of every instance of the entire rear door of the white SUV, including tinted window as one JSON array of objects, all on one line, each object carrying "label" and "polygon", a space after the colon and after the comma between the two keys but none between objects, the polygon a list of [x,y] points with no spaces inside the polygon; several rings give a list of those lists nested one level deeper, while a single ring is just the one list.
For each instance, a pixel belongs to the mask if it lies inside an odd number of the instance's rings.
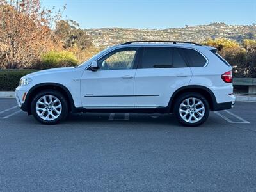
[{"label": "entire rear door of the white SUV, including tinted window", "polygon": [[191,70],[177,47],[144,47],[134,81],[134,105],[166,107],[173,92],[189,84]]}]

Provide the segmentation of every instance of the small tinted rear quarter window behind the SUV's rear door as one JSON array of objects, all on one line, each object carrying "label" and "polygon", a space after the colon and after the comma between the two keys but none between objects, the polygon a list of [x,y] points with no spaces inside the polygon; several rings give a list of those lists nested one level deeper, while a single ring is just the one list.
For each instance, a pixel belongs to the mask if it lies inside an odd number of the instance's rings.
[{"label": "small tinted rear quarter window behind the SUV's rear door", "polygon": [[203,67],[205,65],[206,60],[198,51],[194,49],[183,49],[183,52],[190,67]]}]

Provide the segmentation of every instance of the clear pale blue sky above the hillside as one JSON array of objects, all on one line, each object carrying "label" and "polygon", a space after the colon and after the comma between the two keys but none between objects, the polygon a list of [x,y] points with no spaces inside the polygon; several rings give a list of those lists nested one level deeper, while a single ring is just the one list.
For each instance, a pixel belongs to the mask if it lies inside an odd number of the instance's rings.
[{"label": "clear pale blue sky above the hillside", "polygon": [[63,19],[76,20],[81,29],[256,23],[256,0],[42,0],[45,8],[65,4]]}]

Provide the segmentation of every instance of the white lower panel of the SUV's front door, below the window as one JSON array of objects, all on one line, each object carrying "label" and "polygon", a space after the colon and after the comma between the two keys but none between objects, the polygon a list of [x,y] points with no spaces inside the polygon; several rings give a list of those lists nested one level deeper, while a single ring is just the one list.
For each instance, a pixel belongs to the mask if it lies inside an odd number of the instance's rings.
[{"label": "white lower panel of the SUV's front door, below the window", "polygon": [[[131,70],[84,70],[81,99],[84,108],[134,107],[134,76]],[[124,96],[127,97],[124,97]]]}]

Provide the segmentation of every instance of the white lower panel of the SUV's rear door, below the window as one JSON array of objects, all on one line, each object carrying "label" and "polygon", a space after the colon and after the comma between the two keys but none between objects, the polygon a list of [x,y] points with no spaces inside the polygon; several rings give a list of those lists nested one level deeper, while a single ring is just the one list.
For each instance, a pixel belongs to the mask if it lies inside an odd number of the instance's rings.
[{"label": "white lower panel of the SUV's rear door, below the window", "polygon": [[173,92],[182,86],[187,86],[190,79],[189,67],[137,69],[134,82],[134,105],[166,107]]}]

